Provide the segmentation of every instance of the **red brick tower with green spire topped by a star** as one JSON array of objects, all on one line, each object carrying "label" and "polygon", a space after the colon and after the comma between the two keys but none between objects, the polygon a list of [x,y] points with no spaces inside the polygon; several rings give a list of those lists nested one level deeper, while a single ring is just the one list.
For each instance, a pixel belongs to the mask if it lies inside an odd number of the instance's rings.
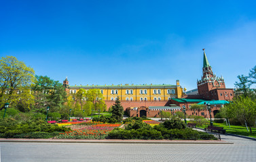
[{"label": "red brick tower with green spire topped by a star", "polygon": [[225,82],[223,77],[221,76],[219,78],[215,74],[213,74],[212,67],[208,62],[205,51],[204,51],[204,66],[202,68],[202,78],[201,80],[198,80],[197,84],[198,84],[198,93],[204,99],[209,99],[209,100],[212,99],[211,97],[212,95],[210,92],[211,90],[225,88]]}]

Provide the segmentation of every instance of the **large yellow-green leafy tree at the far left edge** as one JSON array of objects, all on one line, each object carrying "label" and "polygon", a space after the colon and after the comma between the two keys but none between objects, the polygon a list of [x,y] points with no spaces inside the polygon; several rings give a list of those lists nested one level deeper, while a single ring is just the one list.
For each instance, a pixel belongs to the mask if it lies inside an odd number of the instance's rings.
[{"label": "large yellow-green leafy tree at the far left edge", "polygon": [[[20,99],[20,95],[17,94],[21,94],[22,90],[30,88],[35,81],[34,73],[33,68],[27,67],[24,62],[18,61],[16,57],[1,57],[0,106],[3,107],[6,102],[16,105],[17,99]],[[22,97],[26,101],[24,97],[27,97],[27,95]]]}]

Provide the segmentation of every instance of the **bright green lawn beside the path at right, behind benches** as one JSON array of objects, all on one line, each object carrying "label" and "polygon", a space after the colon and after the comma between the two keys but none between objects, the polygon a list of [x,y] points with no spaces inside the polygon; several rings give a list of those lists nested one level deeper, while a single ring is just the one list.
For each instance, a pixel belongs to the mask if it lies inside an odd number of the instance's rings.
[{"label": "bright green lawn beside the path at right, behind benches", "polygon": [[[247,132],[246,126],[228,126],[225,123],[215,123],[213,122],[213,126],[223,127],[227,133],[230,134],[238,134],[242,136],[249,136],[256,138],[256,128],[251,128],[252,134],[250,133],[250,129],[248,128],[249,132]],[[198,128],[206,128],[207,126],[198,126]]]}]

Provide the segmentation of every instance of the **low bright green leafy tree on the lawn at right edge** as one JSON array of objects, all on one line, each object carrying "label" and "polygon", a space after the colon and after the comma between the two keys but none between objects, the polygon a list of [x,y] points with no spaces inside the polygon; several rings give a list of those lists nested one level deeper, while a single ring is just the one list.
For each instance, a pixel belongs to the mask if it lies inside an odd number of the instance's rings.
[{"label": "low bright green leafy tree on the lawn at right edge", "polygon": [[242,119],[248,124],[251,131],[251,126],[255,123],[256,119],[256,101],[250,97],[239,96],[228,105],[225,105],[223,110],[228,117],[234,119]]}]

